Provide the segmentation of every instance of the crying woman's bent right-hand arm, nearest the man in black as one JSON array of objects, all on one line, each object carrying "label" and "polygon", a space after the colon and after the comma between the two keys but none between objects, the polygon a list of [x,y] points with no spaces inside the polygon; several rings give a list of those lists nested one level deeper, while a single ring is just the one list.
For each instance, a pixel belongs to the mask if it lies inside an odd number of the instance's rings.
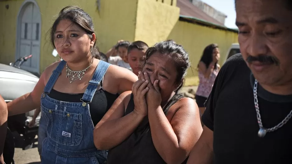
[{"label": "crying woman's bent right-hand arm, nearest the man in black", "polygon": [[166,163],[182,163],[202,133],[199,108],[194,100],[181,98],[177,103],[173,106],[177,104],[178,110],[170,122],[160,106],[155,109],[147,103],[153,144]]}]

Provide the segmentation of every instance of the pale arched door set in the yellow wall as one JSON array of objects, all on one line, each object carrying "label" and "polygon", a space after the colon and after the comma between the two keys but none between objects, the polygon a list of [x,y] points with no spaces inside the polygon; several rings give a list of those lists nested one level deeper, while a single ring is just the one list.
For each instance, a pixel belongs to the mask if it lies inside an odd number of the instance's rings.
[{"label": "pale arched door set in the yellow wall", "polygon": [[17,18],[15,59],[32,54],[21,68],[35,73],[40,72],[40,29],[40,9],[34,0],[26,0],[22,3]]}]

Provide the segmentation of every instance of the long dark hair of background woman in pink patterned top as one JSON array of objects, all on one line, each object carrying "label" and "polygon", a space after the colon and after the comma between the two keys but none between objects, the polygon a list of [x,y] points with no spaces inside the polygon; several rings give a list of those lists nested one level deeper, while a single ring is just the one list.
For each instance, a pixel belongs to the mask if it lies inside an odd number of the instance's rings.
[{"label": "long dark hair of background woman in pink patterned top", "polygon": [[[200,61],[205,63],[207,68],[209,67],[210,63],[213,61],[213,50],[215,48],[218,48],[217,44],[209,44],[203,51],[203,55],[201,56]],[[214,65],[214,70],[216,69],[217,69],[217,62]]]}]

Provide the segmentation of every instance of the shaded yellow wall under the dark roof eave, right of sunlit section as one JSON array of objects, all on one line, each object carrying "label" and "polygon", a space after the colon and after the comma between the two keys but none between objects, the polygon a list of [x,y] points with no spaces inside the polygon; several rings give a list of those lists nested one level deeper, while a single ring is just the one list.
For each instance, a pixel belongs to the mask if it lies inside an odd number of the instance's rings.
[{"label": "shaded yellow wall under the dark roof eave, right of sunlit section", "polygon": [[198,84],[198,72],[196,71],[198,62],[203,54],[204,48],[211,44],[217,43],[220,49],[220,61],[222,65],[228,48],[232,43],[237,43],[238,34],[231,31],[213,29],[184,21],[178,21],[174,26],[168,39],[173,39],[183,45],[190,55],[191,68],[188,70],[185,85]]}]

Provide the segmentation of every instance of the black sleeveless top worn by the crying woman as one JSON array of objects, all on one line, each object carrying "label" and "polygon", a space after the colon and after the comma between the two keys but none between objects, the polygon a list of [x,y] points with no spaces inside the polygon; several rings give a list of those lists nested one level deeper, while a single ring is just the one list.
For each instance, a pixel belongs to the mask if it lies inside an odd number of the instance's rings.
[{"label": "black sleeveless top worn by the crying woman", "polygon": [[[163,112],[167,115],[169,108],[176,103],[183,96],[175,94],[163,107]],[[134,110],[134,97],[131,94],[129,104],[126,108],[125,115]],[[185,164],[187,159],[183,162]],[[127,138],[124,142],[117,145],[108,151],[107,155],[108,164],[164,164],[164,160],[158,154],[154,147],[148,116],[146,116],[137,129]]]}]

